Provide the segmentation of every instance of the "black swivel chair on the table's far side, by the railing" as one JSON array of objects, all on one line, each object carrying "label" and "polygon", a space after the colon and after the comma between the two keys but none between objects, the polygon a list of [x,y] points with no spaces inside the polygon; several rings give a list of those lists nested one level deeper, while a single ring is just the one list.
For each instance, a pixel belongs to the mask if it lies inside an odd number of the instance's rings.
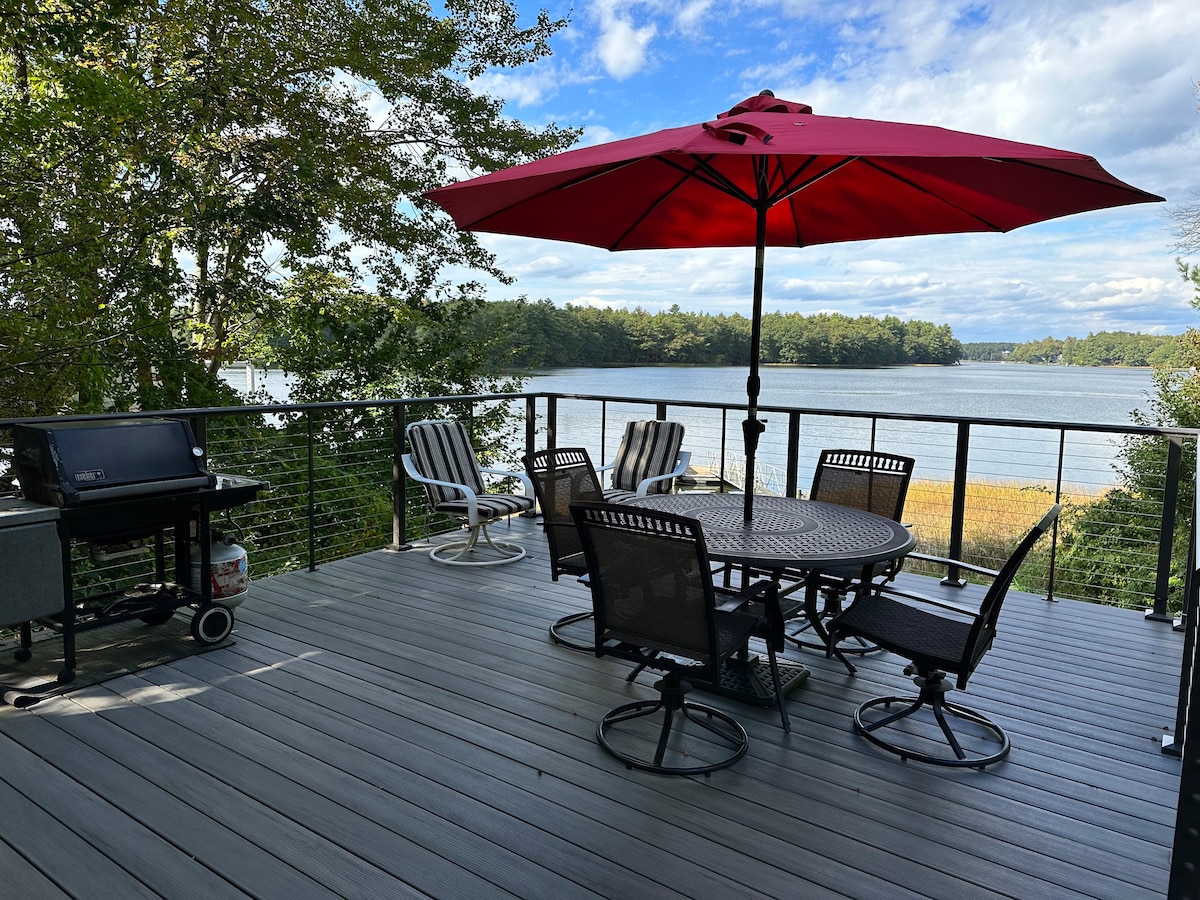
[{"label": "black swivel chair on the table's far side, by the railing", "polygon": [[[911,456],[896,456],[875,450],[822,450],[817,460],[817,469],[812,476],[810,500],[836,503],[841,506],[875,512],[896,522],[904,515],[904,502],[908,493],[908,482],[916,461]],[[872,568],[870,581],[889,582],[904,565],[904,559],[893,559]],[[802,581],[805,576],[798,576]],[[821,618],[828,619],[841,612],[846,594],[862,580],[858,569],[827,569],[817,578],[821,595],[824,599]],[[793,620],[794,626],[787,632],[788,640],[798,647],[824,650],[823,641],[808,636],[812,623],[802,619]],[[841,653],[871,653],[878,647],[853,637],[838,648]]]}]

